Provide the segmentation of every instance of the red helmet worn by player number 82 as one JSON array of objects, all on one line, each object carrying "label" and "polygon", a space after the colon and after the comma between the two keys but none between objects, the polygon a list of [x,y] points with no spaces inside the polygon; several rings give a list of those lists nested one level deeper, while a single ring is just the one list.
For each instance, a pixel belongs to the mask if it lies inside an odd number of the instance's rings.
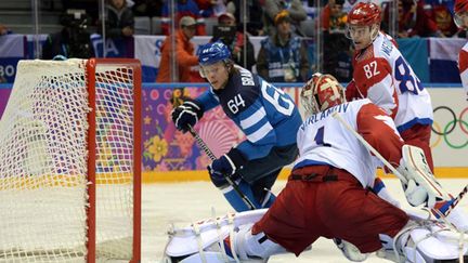
[{"label": "red helmet worn by player number 82", "polygon": [[348,13],[348,24],[356,26],[369,26],[381,21],[380,8],[370,2],[360,2]]}]

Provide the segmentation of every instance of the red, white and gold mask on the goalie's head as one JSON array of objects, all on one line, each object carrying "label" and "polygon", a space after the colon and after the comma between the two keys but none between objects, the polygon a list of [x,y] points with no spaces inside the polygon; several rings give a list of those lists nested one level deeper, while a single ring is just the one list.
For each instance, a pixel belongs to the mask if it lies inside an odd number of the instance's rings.
[{"label": "red, white and gold mask on the goalie's head", "polygon": [[344,90],[332,75],[317,73],[302,87],[301,102],[310,116],[344,103]]}]

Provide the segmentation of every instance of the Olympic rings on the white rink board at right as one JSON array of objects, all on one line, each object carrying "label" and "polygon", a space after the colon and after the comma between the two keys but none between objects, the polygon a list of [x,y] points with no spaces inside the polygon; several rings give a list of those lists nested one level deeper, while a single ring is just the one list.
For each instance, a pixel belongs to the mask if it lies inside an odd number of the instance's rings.
[{"label": "Olympic rings on the white rink board at right", "polygon": [[431,148],[437,147],[443,139],[445,141],[445,143],[452,148],[455,148],[455,149],[465,148],[468,145],[468,139],[465,143],[456,145],[453,142],[448,141],[448,134],[451,134],[458,124],[461,132],[464,134],[468,135],[468,120],[464,120],[464,116],[468,113],[468,107],[466,107],[464,110],[461,110],[461,113],[458,115],[458,118],[457,118],[456,114],[454,113],[454,110],[447,106],[435,107],[433,109],[434,116],[435,116],[435,113],[438,113],[438,111],[447,111],[452,116],[452,120],[448,121],[445,124],[445,127],[441,127],[439,124],[439,122],[437,122],[435,120],[433,121],[431,130],[433,133],[435,133],[439,136],[435,140],[435,142],[433,142],[430,145],[430,147]]}]

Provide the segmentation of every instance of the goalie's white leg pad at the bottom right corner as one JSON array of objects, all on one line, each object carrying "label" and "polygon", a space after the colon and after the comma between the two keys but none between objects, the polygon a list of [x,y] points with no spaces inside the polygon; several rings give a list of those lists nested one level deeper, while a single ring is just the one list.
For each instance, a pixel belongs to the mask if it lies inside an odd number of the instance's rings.
[{"label": "goalie's white leg pad at the bottom right corner", "polygon": [[394,262],[457,260],[468,251],[468,241],[463,234],[429,220],[410,221],[394,238],[380,235],[380,239],[385,244],[377,255]]}]

